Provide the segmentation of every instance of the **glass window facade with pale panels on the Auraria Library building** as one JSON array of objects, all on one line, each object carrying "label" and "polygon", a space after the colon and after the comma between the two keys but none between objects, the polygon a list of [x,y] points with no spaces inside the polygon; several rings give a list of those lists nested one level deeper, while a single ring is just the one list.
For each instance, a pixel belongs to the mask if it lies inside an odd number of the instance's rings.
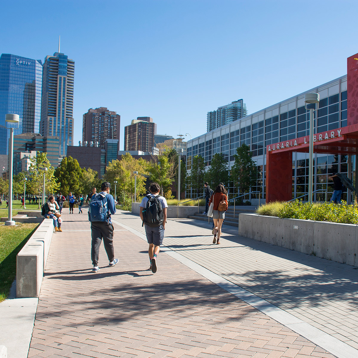
[{"label": "glass window facade with pale panels on the Auraria Library building", "polygon": [[[211,165],[212,156],[216,153],[223,153],[230,169],[234,164],[236,148],[247,144],[250,146],[252,159],[256,161],[260,173],[256,186],[251,190],[260,191],[260,198],[265,199],[266,146],[309,135],[309,110],[305,109],[304,94],[310,92],[320,95],[318,110],[314,111],[314,133],[347,126],[347,76],[343,76],[189,140],[187,144],[188,174],[190,174],[192,159],[195,155],[201,155],[208,168]],[[326,191],[330,199],[333,193],[333,181],[328,177],[336,172],[348,174],[348,159],[347,155],[314,154],[313,190],[321,191],[314,194],[315,200],[324,200]],[[355,170],[355,158],[352,159],[352,168]],[[277,180],[280,180],[279,177],[280,173],[277,173]],[[232,182],[228,183],[228,188],[230,198],[237,196],[238,189]],[[308,154],[293,153],[292,198],[307,193]],[[196,195],[188,183],[187,197]],[[244,199],[251,200],[257,197],[257,194],[250,194]],[[342,199],[347,200],[347,189],[343,192]]]}]

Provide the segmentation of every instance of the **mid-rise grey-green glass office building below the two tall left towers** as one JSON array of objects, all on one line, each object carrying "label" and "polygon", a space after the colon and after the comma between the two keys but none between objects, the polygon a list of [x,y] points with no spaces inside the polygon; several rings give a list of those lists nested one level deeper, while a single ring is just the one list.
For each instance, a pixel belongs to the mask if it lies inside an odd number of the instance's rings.
[{"label": "mid-rise grey-green glass office building below the two tall left towers", "polygon": [[47,155],[47,159],[54,168],[58,167],[61,158],[58,155],[60,147],[59,137],[54,136],[42,136],[38,133],[23,133],[14,135],[14,163],[15,158],[18,161],[17,166],[14,164],[13,173],[18,174],[21,171],[22,166],[19,164],[19,160],[22,160],[26,155],[21,157],[20,153],[30,153],[37,151]]}]

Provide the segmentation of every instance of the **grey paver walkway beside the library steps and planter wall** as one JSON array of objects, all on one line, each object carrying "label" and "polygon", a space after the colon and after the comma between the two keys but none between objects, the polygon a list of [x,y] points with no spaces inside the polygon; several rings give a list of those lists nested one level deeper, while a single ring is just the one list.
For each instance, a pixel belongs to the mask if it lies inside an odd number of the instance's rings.
[{"label": "grey paver walkway beside the library steps and planter wall", "polygon": [[[124,217],[122,222],[142,232],[138,217]],[[164,243],[358,349],[358,272],[353,266],[243,238],[237,228],[224,226],[224,231],[217,247],[211,243],[211,225],[175,219],[168,221]]]}]

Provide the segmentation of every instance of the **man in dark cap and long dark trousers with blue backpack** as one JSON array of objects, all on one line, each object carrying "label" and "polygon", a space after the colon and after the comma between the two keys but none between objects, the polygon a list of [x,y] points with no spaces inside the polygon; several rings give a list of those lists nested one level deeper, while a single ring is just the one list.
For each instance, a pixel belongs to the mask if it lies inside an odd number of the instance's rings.
[{"label": "man in dark cap and long dark trousers with blue backpack", "polygon": [[112,195],[110,195],[111,184],[104,182],[101,185],[101,192],[92,195],[88,209],[88,220],[91,222],[92,245],[91,258],[92,272],[98,272],[98,258],[100,246],[103,238],[103,245],[112,267],[118,263],[118,258],[114,258],[113,249],[113,225],[111,215],[116,213],[116,205]]}]

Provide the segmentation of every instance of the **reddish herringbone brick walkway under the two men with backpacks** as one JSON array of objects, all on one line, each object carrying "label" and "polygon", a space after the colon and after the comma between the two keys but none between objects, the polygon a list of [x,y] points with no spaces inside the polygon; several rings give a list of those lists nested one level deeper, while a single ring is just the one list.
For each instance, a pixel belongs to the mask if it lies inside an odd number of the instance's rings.
[{"label": "reddish herringbone brick walkway under the two men with backpacks", "polygon": [[147,244],[116,224],[120,263],[108,267],[102,245],[101,270],[92,274],[87,215],[63,218],[29,357],[333,357],[165,253],[153,275]]}]

